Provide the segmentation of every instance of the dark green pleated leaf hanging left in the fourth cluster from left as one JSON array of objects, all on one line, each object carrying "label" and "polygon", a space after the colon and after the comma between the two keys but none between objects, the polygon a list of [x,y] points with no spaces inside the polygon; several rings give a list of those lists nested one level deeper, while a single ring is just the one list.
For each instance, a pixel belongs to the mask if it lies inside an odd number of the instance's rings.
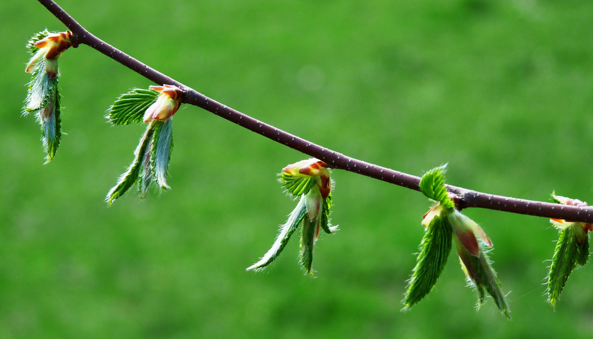
[{"label": "dark green pleated leaf hanging left in the fourth cluster from left", "polygon": [[403,300],[404,309],[419,302],[435,286],[451,252],[451,236],[451,225],[446,216],[432,218],[420,242],[420,254]]}]

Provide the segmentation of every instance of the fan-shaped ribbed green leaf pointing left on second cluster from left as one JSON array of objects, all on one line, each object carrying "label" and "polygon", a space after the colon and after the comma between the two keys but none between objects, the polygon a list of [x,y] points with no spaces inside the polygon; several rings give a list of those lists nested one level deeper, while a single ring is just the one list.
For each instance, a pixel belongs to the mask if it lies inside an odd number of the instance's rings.
[{"label": "fan-shaped ribbed green leaf pointing left on second cluster from left", "polygon": [[141,123],[144,113],[157,101],[158,95],[154,89],[132,89],[117,98],[106,117],[114,125]]}]

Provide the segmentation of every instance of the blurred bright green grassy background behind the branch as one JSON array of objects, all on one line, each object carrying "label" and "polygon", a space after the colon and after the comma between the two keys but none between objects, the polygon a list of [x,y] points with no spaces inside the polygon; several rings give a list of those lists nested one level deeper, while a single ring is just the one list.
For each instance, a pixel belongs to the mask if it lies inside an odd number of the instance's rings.
[{"label": "blurred bright green grassy background behind the branch", "polygon": [[[60,0],[101,39],[221,103],[410,174],[506,196],[593,200],[591,1]],[[548,220],[466,210],[495,244],[513,320],[476,311],[457,256],[400,312],[430,203],[334,171],[336,235],[263,255],[295,202],[276,181],[308,158],[197,107],[175,116],[170,191],[103,202],[143,126],[110,127],[117,95],[151,82],[88,46],[60,59],[63,130],[43,165],[20,116],[25,42],[64,30],[34,0],[2,0],[0,338],[591,338],[593,264],[554,312]]]}]

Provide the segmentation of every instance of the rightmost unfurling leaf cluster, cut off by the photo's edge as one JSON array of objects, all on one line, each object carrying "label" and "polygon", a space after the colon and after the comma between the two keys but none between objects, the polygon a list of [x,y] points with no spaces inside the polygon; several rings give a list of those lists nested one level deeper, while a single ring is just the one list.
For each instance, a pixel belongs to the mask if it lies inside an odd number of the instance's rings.
[{"label": "rightmost unfurling leaf cluster, cut off by the photo's edge", "polygon": [[[552,199],[559,204],[572,206],[588,206],[587,203],[578,199],[556,196],[552,193]],[[548,274],[548,302],[556,307],[560,293],[568,281],[568,277],[577,265],[584,266],[589,258],[589,231],[593,231],[593,225],[584,222],[570,222],[563,219],[550,219],[552,225],[559,229],[560,236],[554,249],[550,273]]]}]

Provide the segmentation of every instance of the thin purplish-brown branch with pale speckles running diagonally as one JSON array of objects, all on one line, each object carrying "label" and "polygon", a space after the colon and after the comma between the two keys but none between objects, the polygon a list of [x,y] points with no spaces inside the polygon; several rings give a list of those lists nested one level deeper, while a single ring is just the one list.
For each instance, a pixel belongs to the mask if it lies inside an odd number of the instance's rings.
[{"label": "thin purplish-brown branch with pale speckles running diagonally", "polygon": [[[68,13],[56,4],[53,0],[39,0],[53,15],[56,16],[69,30],[72,31],[75,38],[75,46],[78,44],[86,44],[111,59],[116,60],[122,65],[126,66],[132,71],[138,72],[145,78],[154,81],[159,85],[176,85],[182,88],[186,94],[184,96],[184,103],[196,105],[219,117],[232,121],[241,127],[245,127],[252,132],[263,135],[275,142],[282,143],[299,152],[321,159],[329,165],[330,168],[344,169],[346,171],[355,172],[366,175],[367,177],[375,178],[377,180],[387,181],[387,183],[396,184],[419,191],[418,184],[420,177],[406,174],[403,172],[394,171],[393,169],[369,164],[368,162],[360,161],[358,159],[350,158],[342,153],[331,151],[331,149],[315,145],[298,136],[284,132],[269,124],[263,123],[257,119],[253,119],[246,114],[236,111],[226,105],[219,103],[216,100],[206,97],[197,92],[195,89],[187,87],[150,68],[142,62],[116,49],[105,41],[98,39],[84,27],[74,20]],[[545,218],[567,219],[579,222],[593,223],[593,207],[578,207],[568,206],[555,203],[536,202],[533,200],[516,199],[511,197],[496,196],[493,194],[480,193],[477,191],[467,190],[462,187],[455,187],[447,185],[449,192],[457,195],[458,206],[463,209],[467,207],[481,207],[485,209],[500,210],[511,213],[519,213],[524,215],[541,216]]]}]

